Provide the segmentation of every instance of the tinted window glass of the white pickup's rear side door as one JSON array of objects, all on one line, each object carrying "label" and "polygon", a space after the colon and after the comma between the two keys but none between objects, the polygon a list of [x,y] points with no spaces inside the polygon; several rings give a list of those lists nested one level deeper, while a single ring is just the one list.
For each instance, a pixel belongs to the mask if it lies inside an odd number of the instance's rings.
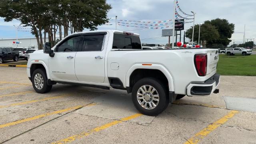
[{"label": "tinted window glass of the white pickup's rear side door", "polygon": [[105,35],[84,36],[82,51],[101,51]]}]

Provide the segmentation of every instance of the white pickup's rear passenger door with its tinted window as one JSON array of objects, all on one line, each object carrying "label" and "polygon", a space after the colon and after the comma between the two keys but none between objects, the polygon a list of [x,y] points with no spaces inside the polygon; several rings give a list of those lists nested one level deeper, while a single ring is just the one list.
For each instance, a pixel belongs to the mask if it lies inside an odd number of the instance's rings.
[{"label": "white pickup's rear passenger door with its tinted window", "polygon": [[76,77],[83,82],[103,83],[105,79],[106,33],[84,36],[80,52],[76,53]]}]

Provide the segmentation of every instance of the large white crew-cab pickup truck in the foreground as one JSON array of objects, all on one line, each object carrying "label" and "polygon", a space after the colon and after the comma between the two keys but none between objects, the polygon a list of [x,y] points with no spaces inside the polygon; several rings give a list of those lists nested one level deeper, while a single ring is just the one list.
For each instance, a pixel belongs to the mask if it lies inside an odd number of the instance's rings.
[{"label": "large white crew-cab pickup truck in the foreground", "polygon": [[142,114],[157,115],[170,102],[218,93],[218,50],[142,50],[139,34],[117,30],[78,32],[31,53],[27,74],[34,90],[56,83],[116,88],[132,93]]}]

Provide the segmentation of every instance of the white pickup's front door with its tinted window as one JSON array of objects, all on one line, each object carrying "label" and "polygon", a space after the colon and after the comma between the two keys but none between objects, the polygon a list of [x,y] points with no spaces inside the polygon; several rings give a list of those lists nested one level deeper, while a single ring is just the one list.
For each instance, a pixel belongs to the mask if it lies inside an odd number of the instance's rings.
[{"label": "white pickup's front door with its tinted window", "polygon": [[75,74],[75,57],[82,43],[82,36],[66,38],[54,49],[54,57],[49,56],[50,74],[53,79],[78,80]]}]

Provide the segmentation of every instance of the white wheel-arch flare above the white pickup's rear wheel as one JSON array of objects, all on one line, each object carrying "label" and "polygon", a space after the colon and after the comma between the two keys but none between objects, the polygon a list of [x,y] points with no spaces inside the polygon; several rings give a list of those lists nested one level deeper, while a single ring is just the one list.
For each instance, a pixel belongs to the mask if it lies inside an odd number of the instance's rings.
[{"label": "white wheel-arch flare above the white pickup's rear wheel", "polygon": [[152,64],[151,66],[143,66],[142,64],[134,64],[126,73],[126,87],[130,86],[130,76],[132,72],[136,69],[155,69],[160,70],[167,78],[168,85],[169,85],[169,91],[174,92],[174,80],[170,72],[162,65],[160,64]]}]

